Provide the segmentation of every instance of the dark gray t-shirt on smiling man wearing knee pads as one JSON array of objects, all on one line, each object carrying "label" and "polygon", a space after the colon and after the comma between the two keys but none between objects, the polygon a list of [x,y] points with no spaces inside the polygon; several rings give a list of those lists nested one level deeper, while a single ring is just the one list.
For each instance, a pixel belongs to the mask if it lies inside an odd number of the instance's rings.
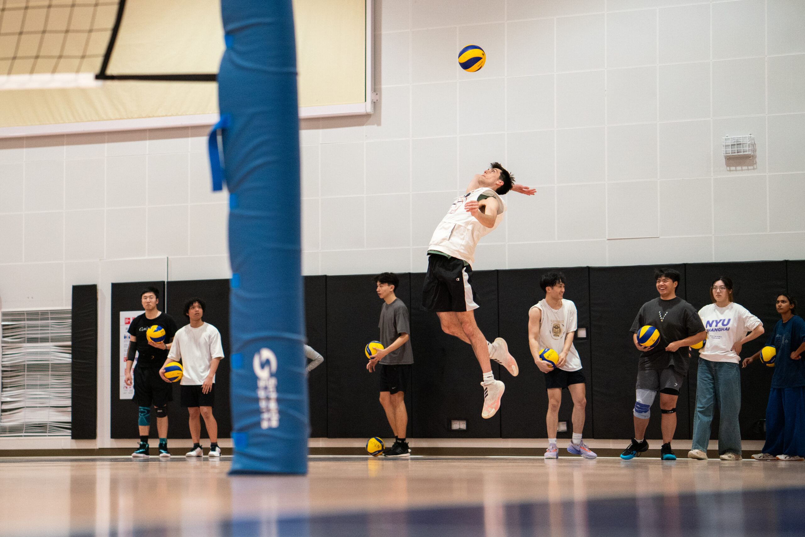
[{"label": "dark gray t-shirt on smiling man wearing knee pads", "polygon": [[681,374],[687,374],[687,360],[691,352],[687,347],[679,347],[669,353],[665,349],[671,341],[683,340],[697,333],[704,332],[704,324],[696,308],[679,296],[671,300],[656,298],[642,305],[638,316],[634,318],[631,332],[638,333],[640,328],[654,326],[659,330],[659,343],[647,353],[640,353],[638,371],[664,370],[668,366]]}]

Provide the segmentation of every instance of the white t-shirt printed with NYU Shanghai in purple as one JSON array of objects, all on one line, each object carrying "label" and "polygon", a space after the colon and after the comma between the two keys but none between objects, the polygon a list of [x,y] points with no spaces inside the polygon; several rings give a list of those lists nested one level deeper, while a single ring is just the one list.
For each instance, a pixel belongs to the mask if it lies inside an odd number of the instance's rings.
[{"label": "white t-shirt printed with NYU Shanghai in purple", "polygon": [[737,364],[741,357],[733,351],[733,345],[762,324],[758,317],[734,302],[724,308],[708,304],[699,310],[699,316],[707,330],[707,339],[699,350],[699,356],[709,361],[732,361]]}]

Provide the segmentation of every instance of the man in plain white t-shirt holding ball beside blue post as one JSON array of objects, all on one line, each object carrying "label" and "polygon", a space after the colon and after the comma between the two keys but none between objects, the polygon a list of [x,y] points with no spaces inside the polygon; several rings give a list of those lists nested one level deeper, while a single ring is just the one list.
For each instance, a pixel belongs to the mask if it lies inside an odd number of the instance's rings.
[{"label": "man in plain white t-shirt holding ball beside blue post", "polygon": [[[202,320],[204,308],[206,304],[199,298],[189,299],[184,304],[184,316],[188,317],[190,324],[176,331],[165,365],[171,361],[181,361],[184,370],[181,403],[190,413],[190,436],[193,439],[193,448],[186,456],[204,455],[200,444],[199,416],[202,416],[209,434],[208,456],[217,457],[221,456],[221,448],[218,447],[218,423],[213,416],[215,372],[224,357],[224,349],[218,329]],[[165,366],[159,370],[159,374],[165,378]]]}]

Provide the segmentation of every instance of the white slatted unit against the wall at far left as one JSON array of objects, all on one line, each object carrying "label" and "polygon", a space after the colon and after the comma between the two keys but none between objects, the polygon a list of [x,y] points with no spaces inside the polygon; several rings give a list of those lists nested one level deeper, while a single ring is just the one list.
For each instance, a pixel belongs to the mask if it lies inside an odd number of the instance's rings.
[{"label": "white slatted unit against the wall at far left", "polygon": [[69,436],[69,309],[0,312],[0,436]]}]

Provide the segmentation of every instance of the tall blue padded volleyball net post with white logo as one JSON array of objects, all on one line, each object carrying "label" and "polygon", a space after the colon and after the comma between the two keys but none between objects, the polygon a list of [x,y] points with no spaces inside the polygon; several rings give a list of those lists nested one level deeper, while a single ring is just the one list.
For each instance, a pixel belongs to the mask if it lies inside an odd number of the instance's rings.
[{"label": "tall blue padded volleyball net post with white logo", "polygon": [[222,0],[221,14],[227,47],[218,99],[226,120],[220,126],[221,155],[230,196],[233,272],[230,473],[306,473],[299,109],[291,0]]}]

